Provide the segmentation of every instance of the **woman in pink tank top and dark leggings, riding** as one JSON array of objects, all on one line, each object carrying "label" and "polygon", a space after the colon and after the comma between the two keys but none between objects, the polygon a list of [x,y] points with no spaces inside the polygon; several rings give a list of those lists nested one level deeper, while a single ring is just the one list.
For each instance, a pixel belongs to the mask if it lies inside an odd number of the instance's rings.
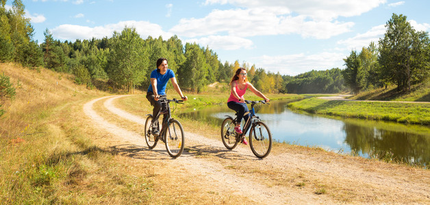
[{"label": "woman in pink tank top and dark leggings, riding", "polygon": [[[242,118],[244,118],[245,122],[249,118],[249,114],[244,115],[244,113],[249,111],[244,99],[244,94],[247,88],[249,88],[249,90],[251,90],[251,92],[253,92],[256,96],[263,98],[266,102],[270,101],[269,98],[266,98],[262,92],[255,89],[255,87],[246,80],[246,75],[247,73],[245,68],[238,68],[230,81],[231,92],[229,100],[227,101],[227,106],[229,109],[232,109],[238,113],[238,120],[236,122],[236,127],[234,128],[236,133],[242,133],[242,129],[240,128],[240,122],[242,122]],[[245,145],[248,144],[245,138],[242,139],[242,143]]]}]

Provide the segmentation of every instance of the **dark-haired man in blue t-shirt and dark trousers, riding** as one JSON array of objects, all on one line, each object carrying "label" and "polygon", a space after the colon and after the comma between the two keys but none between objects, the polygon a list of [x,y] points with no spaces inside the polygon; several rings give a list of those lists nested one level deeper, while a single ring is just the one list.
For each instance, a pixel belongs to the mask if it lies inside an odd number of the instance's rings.
[{"label": "dark-haired man in blue t-shirt and dark trousers, riding", "polygon": [[[173,87],[176,92],[181,96],[182,100],[187,100],[187,96],[184,96],[181,92],[181,88],[177,84],[175,78],[175,72],[167,68],[167,59],[159,58],[157,59],[157,69],[151,72],[151,84],[148,87],[147,99],[151,102],[151,105],[154,107],[153,109],[153,122],[152,122],[152,134],[159,135],[160,131],[158,130],[157,122],[158,122],[158,113],[160,110],[165,111],[167,109],[167,105],[158,101],[158,99],[166,98],[166,85],[168,80],[172,81]],[[162,107],[163,106],[163,107]]]}]

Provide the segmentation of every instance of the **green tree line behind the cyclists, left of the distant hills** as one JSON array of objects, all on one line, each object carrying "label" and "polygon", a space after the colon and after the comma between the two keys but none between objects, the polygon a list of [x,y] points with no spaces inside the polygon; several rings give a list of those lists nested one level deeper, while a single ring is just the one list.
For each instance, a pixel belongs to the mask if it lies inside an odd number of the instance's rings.
[{"label": "green tree line behind the cyclists, left of the distant hills", "polygon": [[130,90],[131,87],[145,89],[149,85],[149,74],[155,69],[160,57],[168,59],[184,90],[201,92],[216,81],[229,83],[234,71],[244,67],[249,70],[249,79],[263,92],[284,92],[283,79],[279,73],[266,72],[239,61],[234,63],[218,59],[209,46],[196,43],[182,44],[177,36],[164,40],[161,36],[140,38],[136,29],[125,27],[114,31],[112,38],[55,40],[46,29],[44,42],[33,40],[34,30],[29,18],[25,18],[25,7],[21,0],[14,0],[12,9],[5,9],[5,0],[0,8],[0,61],[15,61],[23,66],[44,66],[57,72],[75,75],[75,82],[92,86],[95,81],[107,81],[112,87]]}]

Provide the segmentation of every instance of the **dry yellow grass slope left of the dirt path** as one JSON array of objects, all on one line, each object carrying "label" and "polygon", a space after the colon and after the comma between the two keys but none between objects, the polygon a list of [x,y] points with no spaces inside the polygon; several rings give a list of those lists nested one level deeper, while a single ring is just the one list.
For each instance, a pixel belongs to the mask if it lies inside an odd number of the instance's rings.
[{"label": "dry yellow grass slope left of the dirt path", "polygon": [[[0,64],[16,97],[0,119],[1,204],[138,204],[153,192],[143,169],[93,143],[84,102],[106,93],[75,85],[68,74]],[[124,167],[130,169],[124,170]]]}]

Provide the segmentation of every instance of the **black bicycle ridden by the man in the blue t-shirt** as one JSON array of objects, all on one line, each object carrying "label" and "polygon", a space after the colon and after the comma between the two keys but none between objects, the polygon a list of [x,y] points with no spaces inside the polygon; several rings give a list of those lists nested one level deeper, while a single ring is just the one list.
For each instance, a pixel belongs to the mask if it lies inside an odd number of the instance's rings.
[{"label": "black bicycle ridden by the man in the blue t-shirt", "polygon": [[[144,126],[144,135],[145,135],[145,141],[147,141],[147,145],[150,149],[155,148],[157,145],[157,142],[159,139],[161,139],[166,144],[166,150],[170,156],[173,158],[177,158],[178,156],[181,156],[182,152],[184,152],[184,143],[185,143],[185,137],[184,137],[184,128],[182,128],[181,123],[179,121],[170,118],[170,102],[176,102],[179,104],[182,103],[184,100],[177,100],[173,98],[173,100],[168,99],[160,99],[160,102],[167,103],[167,111],[164,111],[162,113],[161,111],[157,114],[157,116],[160,117],[160,114],[167,114],[164,116],[164,119],[162,120],[162,128],[160,130],[160,123],[155,122],[157,124],[157,128],[160,131],[160,135],[154,136],[152,134],[152,120],[153,115],[148,114],[147,121],[145,122]],[[158,118],[160,119],[160,118]]]}]

